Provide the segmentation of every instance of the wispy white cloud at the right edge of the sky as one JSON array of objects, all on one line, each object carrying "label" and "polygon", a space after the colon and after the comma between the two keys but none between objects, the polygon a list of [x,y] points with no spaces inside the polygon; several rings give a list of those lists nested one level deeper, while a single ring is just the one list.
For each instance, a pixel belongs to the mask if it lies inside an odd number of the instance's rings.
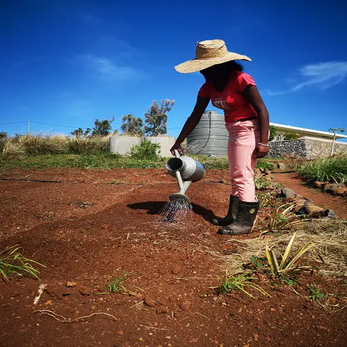
[{"label": "wispy white cloud at the right edge of the sky", "polygon": [[289,90],[273,92],[268,90],[269,95],[281,95],[297,92],[304,87],[316,87],[327,90],[347,78],[347,62],[320,62],[318,64],[306,65],[298,71],[301,81],[293,81]]}]

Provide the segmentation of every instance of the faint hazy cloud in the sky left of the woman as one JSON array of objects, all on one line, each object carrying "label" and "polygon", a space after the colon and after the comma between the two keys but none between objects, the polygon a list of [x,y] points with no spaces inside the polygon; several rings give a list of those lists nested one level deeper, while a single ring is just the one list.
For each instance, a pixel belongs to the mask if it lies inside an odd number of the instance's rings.
[{"label": "faint hazy cloud in the sky left of the woman", "polygon": [[133,67],[115,62],[103,56],[85,56],[88,65],[103,78],[110,80],[128,80],[142,78],[143,74]]}]

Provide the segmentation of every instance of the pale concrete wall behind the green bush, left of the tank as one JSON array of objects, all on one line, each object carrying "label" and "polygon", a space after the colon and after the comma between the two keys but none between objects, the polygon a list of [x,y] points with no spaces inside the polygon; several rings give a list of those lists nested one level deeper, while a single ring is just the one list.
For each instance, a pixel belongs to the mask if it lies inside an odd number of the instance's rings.
[{"label": "pale concrete wall behind the green bush, left of the tank", "polygon": [[[174,146],[176,139],[174,137],[146,137],[149,142],[160,144],[160,156],[171,157],[170,149]],[[113,153],[126,154],[135,144],[141,143],[141,137],[131,136],[111,136],[110,137],[110,151]]]}]

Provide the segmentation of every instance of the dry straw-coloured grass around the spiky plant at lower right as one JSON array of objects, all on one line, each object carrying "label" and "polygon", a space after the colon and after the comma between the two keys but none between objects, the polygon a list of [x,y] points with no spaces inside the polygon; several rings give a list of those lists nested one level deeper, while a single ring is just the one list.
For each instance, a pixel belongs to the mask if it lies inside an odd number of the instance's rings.
[{"label": "dry straw-coloured grass around the spiky plant at lower right", "polygon": [[[294,232],[287,234],[267,236],[269,246],[280,253],[285,252],[285,248],[293,236]],[[315,246],[307,253],[307,260],[319,262],[325,273],[335,273],[347,276],[347,221],[323,219],[305,223],[296,230],[296,249],[313,242]],[[228,255],[228,271],[239,273],[243,271],[242,264],[251,261],[251,256],[265,257],[265,242],[263,237],[255,239],[238,240],[231,239],[230,242],[238,245],[237,253]]]}]

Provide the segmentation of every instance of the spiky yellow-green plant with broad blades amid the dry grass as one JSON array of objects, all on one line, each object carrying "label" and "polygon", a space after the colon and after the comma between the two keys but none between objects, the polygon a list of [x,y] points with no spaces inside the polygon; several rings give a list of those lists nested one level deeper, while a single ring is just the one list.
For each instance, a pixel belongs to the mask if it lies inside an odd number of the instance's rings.
[{"label": "spiky yellow-green plant with broad blades amid the dry grass", "polygon": [[296,271],[302,271],[303,269],[310,268],[310,266],[298,266],[298,263],[302,260],[303,255],[314,246],[314,243],[303,244],[298,251],[291,255],[291,249],[293,248],[294,240],[296,238],[296,232],[291,237],[285,253],[282,255],[280,264],[278,264],[278,257],[272,248],[269,247],[267,239],[265,238],[266,258],[269,262],[271,272],[275,276],[288,276]]}]

